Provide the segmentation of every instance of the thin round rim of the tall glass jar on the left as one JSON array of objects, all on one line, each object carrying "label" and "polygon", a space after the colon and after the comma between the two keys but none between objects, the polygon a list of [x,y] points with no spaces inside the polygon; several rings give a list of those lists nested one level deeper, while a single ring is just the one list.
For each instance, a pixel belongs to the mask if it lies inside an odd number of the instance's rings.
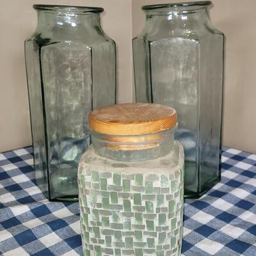
[{"label": "thin round rim of the tall glass jar on the left", "polygon": [[69,5],[55,5],[55,4],[34,4],[33,8],[35,10],[45,10],[51,12],[74,12],[74,13],[101,13],[104,8],[101,7],[91,7],[91,6],[69,6]]}]

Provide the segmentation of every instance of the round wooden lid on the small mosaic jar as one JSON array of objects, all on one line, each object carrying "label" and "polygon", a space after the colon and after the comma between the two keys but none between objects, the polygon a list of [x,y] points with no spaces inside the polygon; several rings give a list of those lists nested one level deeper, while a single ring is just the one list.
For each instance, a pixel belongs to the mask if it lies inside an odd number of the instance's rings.
[{"label": "round wooden lid on the small mosaic jar", "polygon": [[124,103],[95,109],[89,125],[95,132],[142,135],[166,131],[177,124],[175,109],[161,104]]}]

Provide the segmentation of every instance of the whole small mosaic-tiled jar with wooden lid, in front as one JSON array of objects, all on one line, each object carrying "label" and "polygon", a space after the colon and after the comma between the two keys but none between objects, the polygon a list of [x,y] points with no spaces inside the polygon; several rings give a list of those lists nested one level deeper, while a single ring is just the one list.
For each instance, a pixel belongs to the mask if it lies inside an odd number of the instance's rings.
[{"label": "whole small mosaic-tiled jar with wooden lid, in front", "polygon": [[174,109],[118,104],[93,111],[79,163],[84,255],[179,256],[184,152]]}]

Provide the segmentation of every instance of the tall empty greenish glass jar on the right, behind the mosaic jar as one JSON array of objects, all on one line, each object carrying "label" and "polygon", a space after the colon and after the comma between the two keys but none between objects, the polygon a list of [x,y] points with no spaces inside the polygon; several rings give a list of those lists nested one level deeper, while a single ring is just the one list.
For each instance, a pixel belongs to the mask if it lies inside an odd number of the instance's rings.
[{"label": "tall empty greenish glass jar on the right, behind the mosaic jar", "polygon": [[220,180],[224,35],[209,20],[210,4],[145,6],[145,28],[133,40],[136,101],[179,113],[175,138],[184,147],[188,197]]}]

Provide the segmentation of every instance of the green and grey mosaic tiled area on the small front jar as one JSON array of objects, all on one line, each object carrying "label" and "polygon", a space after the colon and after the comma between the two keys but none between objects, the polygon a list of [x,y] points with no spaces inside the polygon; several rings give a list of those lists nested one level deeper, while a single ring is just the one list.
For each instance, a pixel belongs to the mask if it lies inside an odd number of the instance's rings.
[{"label": "green and grey mosaic tiled area on the small front jar", "polygon": [[183,170],[79,174],[84,255],[180,255]]}]

